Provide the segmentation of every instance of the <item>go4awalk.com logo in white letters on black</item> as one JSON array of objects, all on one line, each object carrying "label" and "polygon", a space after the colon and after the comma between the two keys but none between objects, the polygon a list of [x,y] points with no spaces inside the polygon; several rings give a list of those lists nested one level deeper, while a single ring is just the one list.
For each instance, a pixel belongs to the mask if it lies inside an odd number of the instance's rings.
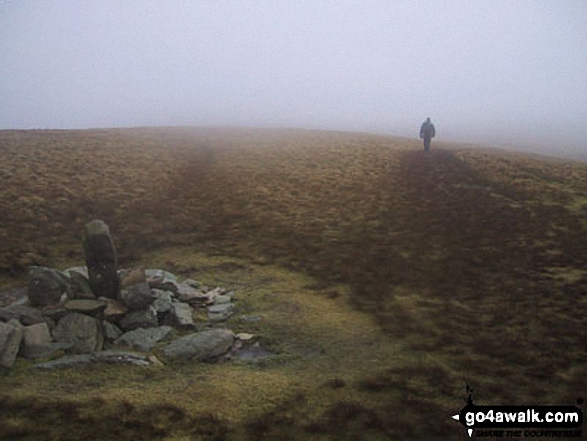
[{"label": "go4awalk.com logo in white letters on black", "polygon": [[[583,399],[577,399],[581,406]],[[580,438],[583,411],[577,406],[477,406],[467,385],[467,404],[452,416],[469,437]]]}]

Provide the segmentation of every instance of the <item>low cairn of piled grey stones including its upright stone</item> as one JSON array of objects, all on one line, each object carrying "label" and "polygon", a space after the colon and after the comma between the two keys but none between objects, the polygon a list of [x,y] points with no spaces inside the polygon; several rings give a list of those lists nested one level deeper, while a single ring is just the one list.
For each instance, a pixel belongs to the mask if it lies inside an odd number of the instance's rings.
[{"label": "low cairn of piled grey stones including its upright stone", "polygon": [[[251,341],[251,334],[226,328],[234,292],[179,282],[162,269],[118,270],[103,221],[85,226],[83,248],[87,266],[31,267],[27,296],[0,308],[0,367],[11,367],[18,356],[42,361],[35,364],[42,369],[161,364],[153,351],[164,359],[213,362]],[[194,321],[198,310],[207,320]]]}]

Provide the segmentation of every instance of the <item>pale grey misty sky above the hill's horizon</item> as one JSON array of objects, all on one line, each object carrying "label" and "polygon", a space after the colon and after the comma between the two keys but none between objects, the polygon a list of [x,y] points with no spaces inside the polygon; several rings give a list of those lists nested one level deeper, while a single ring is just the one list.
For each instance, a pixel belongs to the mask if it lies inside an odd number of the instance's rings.
[{"label": "pale grey misty sky above the hill's horizon", "polygon": [[0,0],[0,129],[303,127],[585,148],[587,1]]}]

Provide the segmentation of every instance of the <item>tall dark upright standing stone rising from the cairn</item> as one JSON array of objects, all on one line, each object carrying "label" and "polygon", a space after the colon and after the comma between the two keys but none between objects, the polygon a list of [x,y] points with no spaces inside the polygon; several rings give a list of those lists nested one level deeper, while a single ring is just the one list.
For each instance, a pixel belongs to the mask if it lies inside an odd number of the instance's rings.
[{"label": "tall dark upright standing stone rising from the cairn", "polygon": [[116,249],[108,225],[101,220],[88,222],[84,227],[83,245],[94,295],[118,299]]}]

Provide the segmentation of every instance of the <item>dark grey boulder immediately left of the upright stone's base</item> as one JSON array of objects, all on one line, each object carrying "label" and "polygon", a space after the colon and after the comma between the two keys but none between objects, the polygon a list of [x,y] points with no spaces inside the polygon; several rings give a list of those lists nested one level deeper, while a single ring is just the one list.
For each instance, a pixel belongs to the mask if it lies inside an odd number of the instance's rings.
[{"label": "dark grey boulder immediately left of the upright stone's base", "polygon": [[31,306],[58,305],[73,296],[75,289],[61,271],[32,266],[28,273],[28,297]]}]

